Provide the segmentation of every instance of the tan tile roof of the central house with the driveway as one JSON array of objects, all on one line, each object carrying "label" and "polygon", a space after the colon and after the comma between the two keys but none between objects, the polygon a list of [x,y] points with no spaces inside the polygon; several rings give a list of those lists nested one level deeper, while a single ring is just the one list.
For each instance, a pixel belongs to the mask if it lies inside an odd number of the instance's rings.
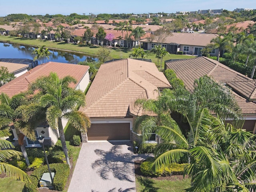
[{"label": "tan tile roof of the central house with the driveway", "polygon": [[80,110],[90,118],[140,116],[144,112],[134,102],[156,99],[159,87],[171,86],[154,63],[128,58],[102,64]]}]

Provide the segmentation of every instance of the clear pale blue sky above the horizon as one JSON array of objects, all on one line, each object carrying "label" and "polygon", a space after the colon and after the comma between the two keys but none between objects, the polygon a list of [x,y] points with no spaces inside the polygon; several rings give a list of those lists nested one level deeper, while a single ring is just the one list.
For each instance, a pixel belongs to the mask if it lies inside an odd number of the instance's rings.
[{"label": "clear pale blue sky above the horizon", "polygon": [[[40,2],[40,4],[38,3]],[[14,13],[29,15],[71,13],[176,13],[176,11],[197,11],[199,9],[253,8],[255,0],[44,0],[44,1],[0,1],[0,16]]]}]

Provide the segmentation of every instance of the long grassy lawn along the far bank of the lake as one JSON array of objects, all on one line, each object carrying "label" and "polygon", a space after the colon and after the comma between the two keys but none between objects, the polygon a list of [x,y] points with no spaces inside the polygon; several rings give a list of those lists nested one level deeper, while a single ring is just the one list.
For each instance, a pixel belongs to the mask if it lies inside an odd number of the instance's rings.
[{"label": "long grassy lawn along the far bank of the lake", "polygon": [[[84,46],[84,45],[76,45],[76,44],[67,44],[64,42],[51,42],[48,40],[40,40],[40,39],[29,39],[29,38],[20,38],[20,37],[11,37],[11,36],[0,36],[0,41],[4,42],[15,42],[20,44],[27,44],[31,46],[43,46],[45,45],[48,48],[54,48],[54,49],[60,49],[60,50],[68,50],[68,51],[75,51],[75,52],[81,52],[88,56],[96,56],[97,52],[100,46]],[[129,58],[129,54],[132,52],[132,50],[127,49],[120,49],[120,48],[111,48],[110,56],[112,58]],[[158,63],[157,58],[154,54],[152,54],[150,51],[148,52],[147,59],[151,59],[152,62],[154,62],[156,65]],[[188,55],[176,55],[176,54],[169,54],[164,56],[163,62],[162,62],[162,68],[164,67],[164,61],[170,60],[170,59],[189,59],[194,58],[194,56],[188,56]],[[160,65],[160,60],[159,60]]]}]

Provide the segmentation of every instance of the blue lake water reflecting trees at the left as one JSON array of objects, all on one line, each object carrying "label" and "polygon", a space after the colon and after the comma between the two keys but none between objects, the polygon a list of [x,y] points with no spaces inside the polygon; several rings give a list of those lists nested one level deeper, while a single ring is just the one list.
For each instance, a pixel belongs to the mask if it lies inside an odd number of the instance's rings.
[{"label": "blue lake water reflecting trees at the left", "polygon": [[[26,58],[26,59],[34,59],[32,54],[34,47],[26,46],[21,44],[14,44],[14,43],[3,43],[0,42],[0,58]],[[48,61],[53,62],[61,62],[61,63],[71,63],[77,64],[80,61],[85,61],[86,58],[92,58],[80,53],[74,52],[64,52],[59,50],[54,50],[49,48],[49,51],[52,53],[50,55],[50,59]],[[98,58],[93,58],[94,60],[98,60]],[[44,58],[45,62],[45,58]],[[38,64],[41,64],[41,61],[38,60]]]}]

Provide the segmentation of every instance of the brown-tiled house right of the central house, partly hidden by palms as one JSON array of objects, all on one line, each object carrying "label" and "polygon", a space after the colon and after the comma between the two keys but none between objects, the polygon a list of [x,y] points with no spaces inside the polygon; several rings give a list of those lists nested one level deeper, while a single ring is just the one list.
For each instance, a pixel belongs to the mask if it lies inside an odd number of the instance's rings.
[{"label": "brown-tiled house right of the central house, partly hidden by palms", "polygon": [[166,62],[165,69],[174,70],[190,91],[193,90],[194,80],[204,75],[229,86],[242,109],[243,128],[256,133],[256,80],[206,57]]}]

